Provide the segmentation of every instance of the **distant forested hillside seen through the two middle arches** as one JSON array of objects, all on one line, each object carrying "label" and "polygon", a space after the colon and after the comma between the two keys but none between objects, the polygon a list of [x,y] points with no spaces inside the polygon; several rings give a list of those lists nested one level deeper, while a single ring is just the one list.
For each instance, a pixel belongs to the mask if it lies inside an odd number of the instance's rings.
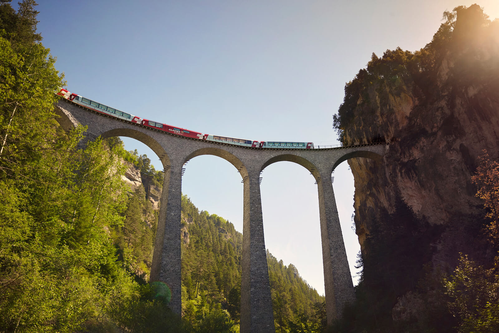
[{"label": "distant forested hillside seen through the two middle arches", "polygon": [[[220,304],[239,319],[243,235],[234,225],[182,197],[182,306],[194,318],[206,304]],[[303,281],[296,267],[284,266],[267,250],[268,273],[277,332],[321,332],[324,297]]]}]

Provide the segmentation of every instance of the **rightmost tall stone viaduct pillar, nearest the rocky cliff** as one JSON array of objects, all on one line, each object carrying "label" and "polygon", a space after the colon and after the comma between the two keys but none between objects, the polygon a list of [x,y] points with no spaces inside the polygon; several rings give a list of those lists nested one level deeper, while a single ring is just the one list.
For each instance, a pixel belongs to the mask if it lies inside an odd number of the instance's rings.
[{"label": "rightmost tall stone viaduct pillar, nearest the rocky cliff", "polygon": [[330,175],[321,172],[321,179],[317,180],[328,325],[341,317],[343,309],[348,303],[355,302],[352,276],[348,266],[330,177]]}]

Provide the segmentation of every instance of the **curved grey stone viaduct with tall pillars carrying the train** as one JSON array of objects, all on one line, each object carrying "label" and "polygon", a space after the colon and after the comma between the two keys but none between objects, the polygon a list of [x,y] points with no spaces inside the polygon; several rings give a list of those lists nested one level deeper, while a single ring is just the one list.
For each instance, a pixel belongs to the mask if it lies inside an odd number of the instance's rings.
[{"label": "curved grey stone viaduct with tall pillars carrying the train", "polygon": [[354,157],[379,159],[385,144],[327,149],[251,148],[155,130],[137,123],[96,112],[66,99],[58,102],[58,121],[65,130],[76,124],[88,126],[86,138],[126,136],[149,146],[163,163],[165,178],[158,229],[151,268],[151,282],[171,292],[170,308],[181,314],[181,196],[182,167],[199,155],[226,159],[241,173],[244,182],[243,259],[241,280],[241,332],[275,332],[270,299],[263,218],[260,199],[260,172],[279,161],[298,163],[317,181],[319,195],[322,261],[328,324],[354,302],[352,278],[336,209],[331,174],[341,162]]}]

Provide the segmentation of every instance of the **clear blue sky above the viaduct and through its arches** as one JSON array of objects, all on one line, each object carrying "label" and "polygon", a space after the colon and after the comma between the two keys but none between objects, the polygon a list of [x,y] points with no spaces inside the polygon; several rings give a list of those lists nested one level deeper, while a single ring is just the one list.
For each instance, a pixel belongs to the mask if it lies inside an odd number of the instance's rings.
[{"label": "clear blue sky above the viaduct and through its arches", "polygon": [[[67,87],[114,108],[208,134],[334,144],[332,115],[345,82],[375,52],[416,50],[458,0],[39,0],[38,32]],[[491,17],[499,1],[479,3]],[[141,143],[126,148],[159,159]],[[353,177],[346,162],[334,191],[352,275]],[[303,167],[262,174],[265,245],[324,292],[317,188]],[[187,164],[183,193],[243,230],[243,187],[227,161]],[[277,200],[276,200],[277,199]],[[277,204],[275,202],[278,202]],[[355,280],[355,279],[354,279]]]}]

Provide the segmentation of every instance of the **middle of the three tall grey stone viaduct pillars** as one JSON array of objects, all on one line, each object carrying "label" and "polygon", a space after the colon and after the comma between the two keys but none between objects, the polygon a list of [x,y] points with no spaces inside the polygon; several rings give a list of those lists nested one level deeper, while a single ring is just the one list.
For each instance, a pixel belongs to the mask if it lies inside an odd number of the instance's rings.
[{"label": "middle of the three tall grey stone viaduct pillars", "polygon": [[248,171],[249,176],[244,179],[241,333],[275,333],[263,239],[259,172]]}]

